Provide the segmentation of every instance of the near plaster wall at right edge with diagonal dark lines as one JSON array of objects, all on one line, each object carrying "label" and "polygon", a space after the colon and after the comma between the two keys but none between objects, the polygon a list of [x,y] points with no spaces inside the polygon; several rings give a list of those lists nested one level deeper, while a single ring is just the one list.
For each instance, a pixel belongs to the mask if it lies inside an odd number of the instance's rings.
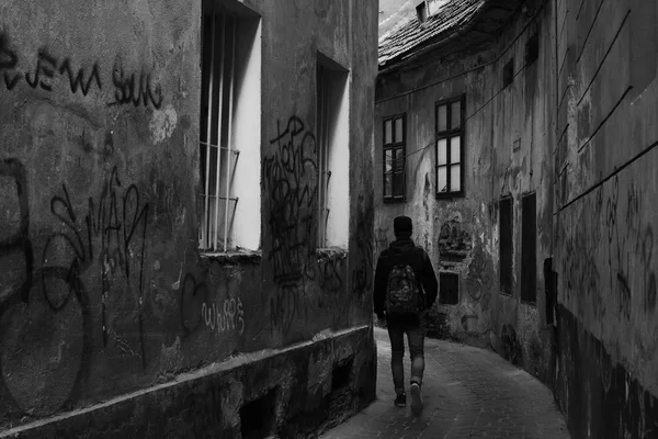
[{"label": "near plaster wall at right edge with diagonal dark lines", "polygon": [[556,393],[575,437],[651,437],[658,9],[558,3]]}]

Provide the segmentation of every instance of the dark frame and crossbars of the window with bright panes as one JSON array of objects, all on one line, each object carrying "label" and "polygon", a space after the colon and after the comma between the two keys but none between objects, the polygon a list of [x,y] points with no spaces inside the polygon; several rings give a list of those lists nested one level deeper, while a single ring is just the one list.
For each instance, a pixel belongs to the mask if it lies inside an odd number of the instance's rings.
[{"label": "dark frame and crossbars of the window with bright panes", "polygon": [[[450,126],[452,122],[452,104],[454,102],[460,102],[460,127],[453,128]],[[445,105],[445,117],[446,117],[446,130],[439,131],[439,108]],[[462,198],[464,196],[464,158],[465,158],[465,146],[466,146],[466,94],[462,93],[452,98],[442,99],[440,101],[434,102],[434,185],[435,185],[435,194],[438,199],[453,199],[453,198]],[[450,138],[455,137],[455,135],[460,136],[460,190],[458,191],[450,191],[451,187],[451,173],[450,168],[454,165],[451,157],[451,147],[450,147]],[[446,146],[445,151],[445,164],[439,165],[439,140],[446,138],[449,139],[449,144]],[[445,183],[449,188],[446,192],[439,191],[439,168],[445,167]]]}]

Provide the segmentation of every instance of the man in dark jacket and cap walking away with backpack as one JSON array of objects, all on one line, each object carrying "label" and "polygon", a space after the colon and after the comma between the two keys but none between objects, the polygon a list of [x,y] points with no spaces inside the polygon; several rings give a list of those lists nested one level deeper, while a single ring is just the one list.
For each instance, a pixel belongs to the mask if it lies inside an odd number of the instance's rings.
[{"label": "man in dark jacket and cap walking away with backpack", "polygon": [[421,314],[438,295],[436,277],[427,252],[411,240],[412,224],[408,216],[393,221],[396,240],[382,251],[375,270],[374,308],[377,318],[386,319],[390,337],[390,369],[395,385],[395,405],[405,407],[405,333],[411,357],[411,412],[422,410],[420,389],[424,371],[424,331]]}]

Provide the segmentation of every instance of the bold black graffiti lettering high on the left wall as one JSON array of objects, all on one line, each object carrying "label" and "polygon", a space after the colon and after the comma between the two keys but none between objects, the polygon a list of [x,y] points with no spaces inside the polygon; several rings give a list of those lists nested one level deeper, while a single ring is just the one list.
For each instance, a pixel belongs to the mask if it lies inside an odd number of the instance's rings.
[{"label": "bold black graffiti lettering high on the left wall", "polygon": [[[82,95],[87,95],[94,87],[99,91],[103,90],[104,82],[98,61],[87,67],[75,68],[71,58],[60,59],[46,47],[42,47],[36,52],[36,64],[21,69],[20,54],[12,49],[9,43],[9,36],[0,33],[0,75],[7,90],[11,91],[22,82],[32,89],[38,88],[48,92],[68,83],[71,93],[80,91]],[[162,90],[160,85],[151,81],[150,72],[144,69],[139,72],[126,72],[117,63],[112,67],[111,77],[114,101],[107,105],[132,103],[135,106],[161,106]]]}]

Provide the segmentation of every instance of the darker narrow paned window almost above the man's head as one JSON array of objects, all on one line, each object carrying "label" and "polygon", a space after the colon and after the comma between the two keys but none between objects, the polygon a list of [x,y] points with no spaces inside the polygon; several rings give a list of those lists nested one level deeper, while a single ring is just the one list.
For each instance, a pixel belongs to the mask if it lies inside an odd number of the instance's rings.
[{"label": "darker narrow paned window almost above the man's head", "polygon": [[384,120],[384,201],[405,200],[405,125],[404,114]]}]

